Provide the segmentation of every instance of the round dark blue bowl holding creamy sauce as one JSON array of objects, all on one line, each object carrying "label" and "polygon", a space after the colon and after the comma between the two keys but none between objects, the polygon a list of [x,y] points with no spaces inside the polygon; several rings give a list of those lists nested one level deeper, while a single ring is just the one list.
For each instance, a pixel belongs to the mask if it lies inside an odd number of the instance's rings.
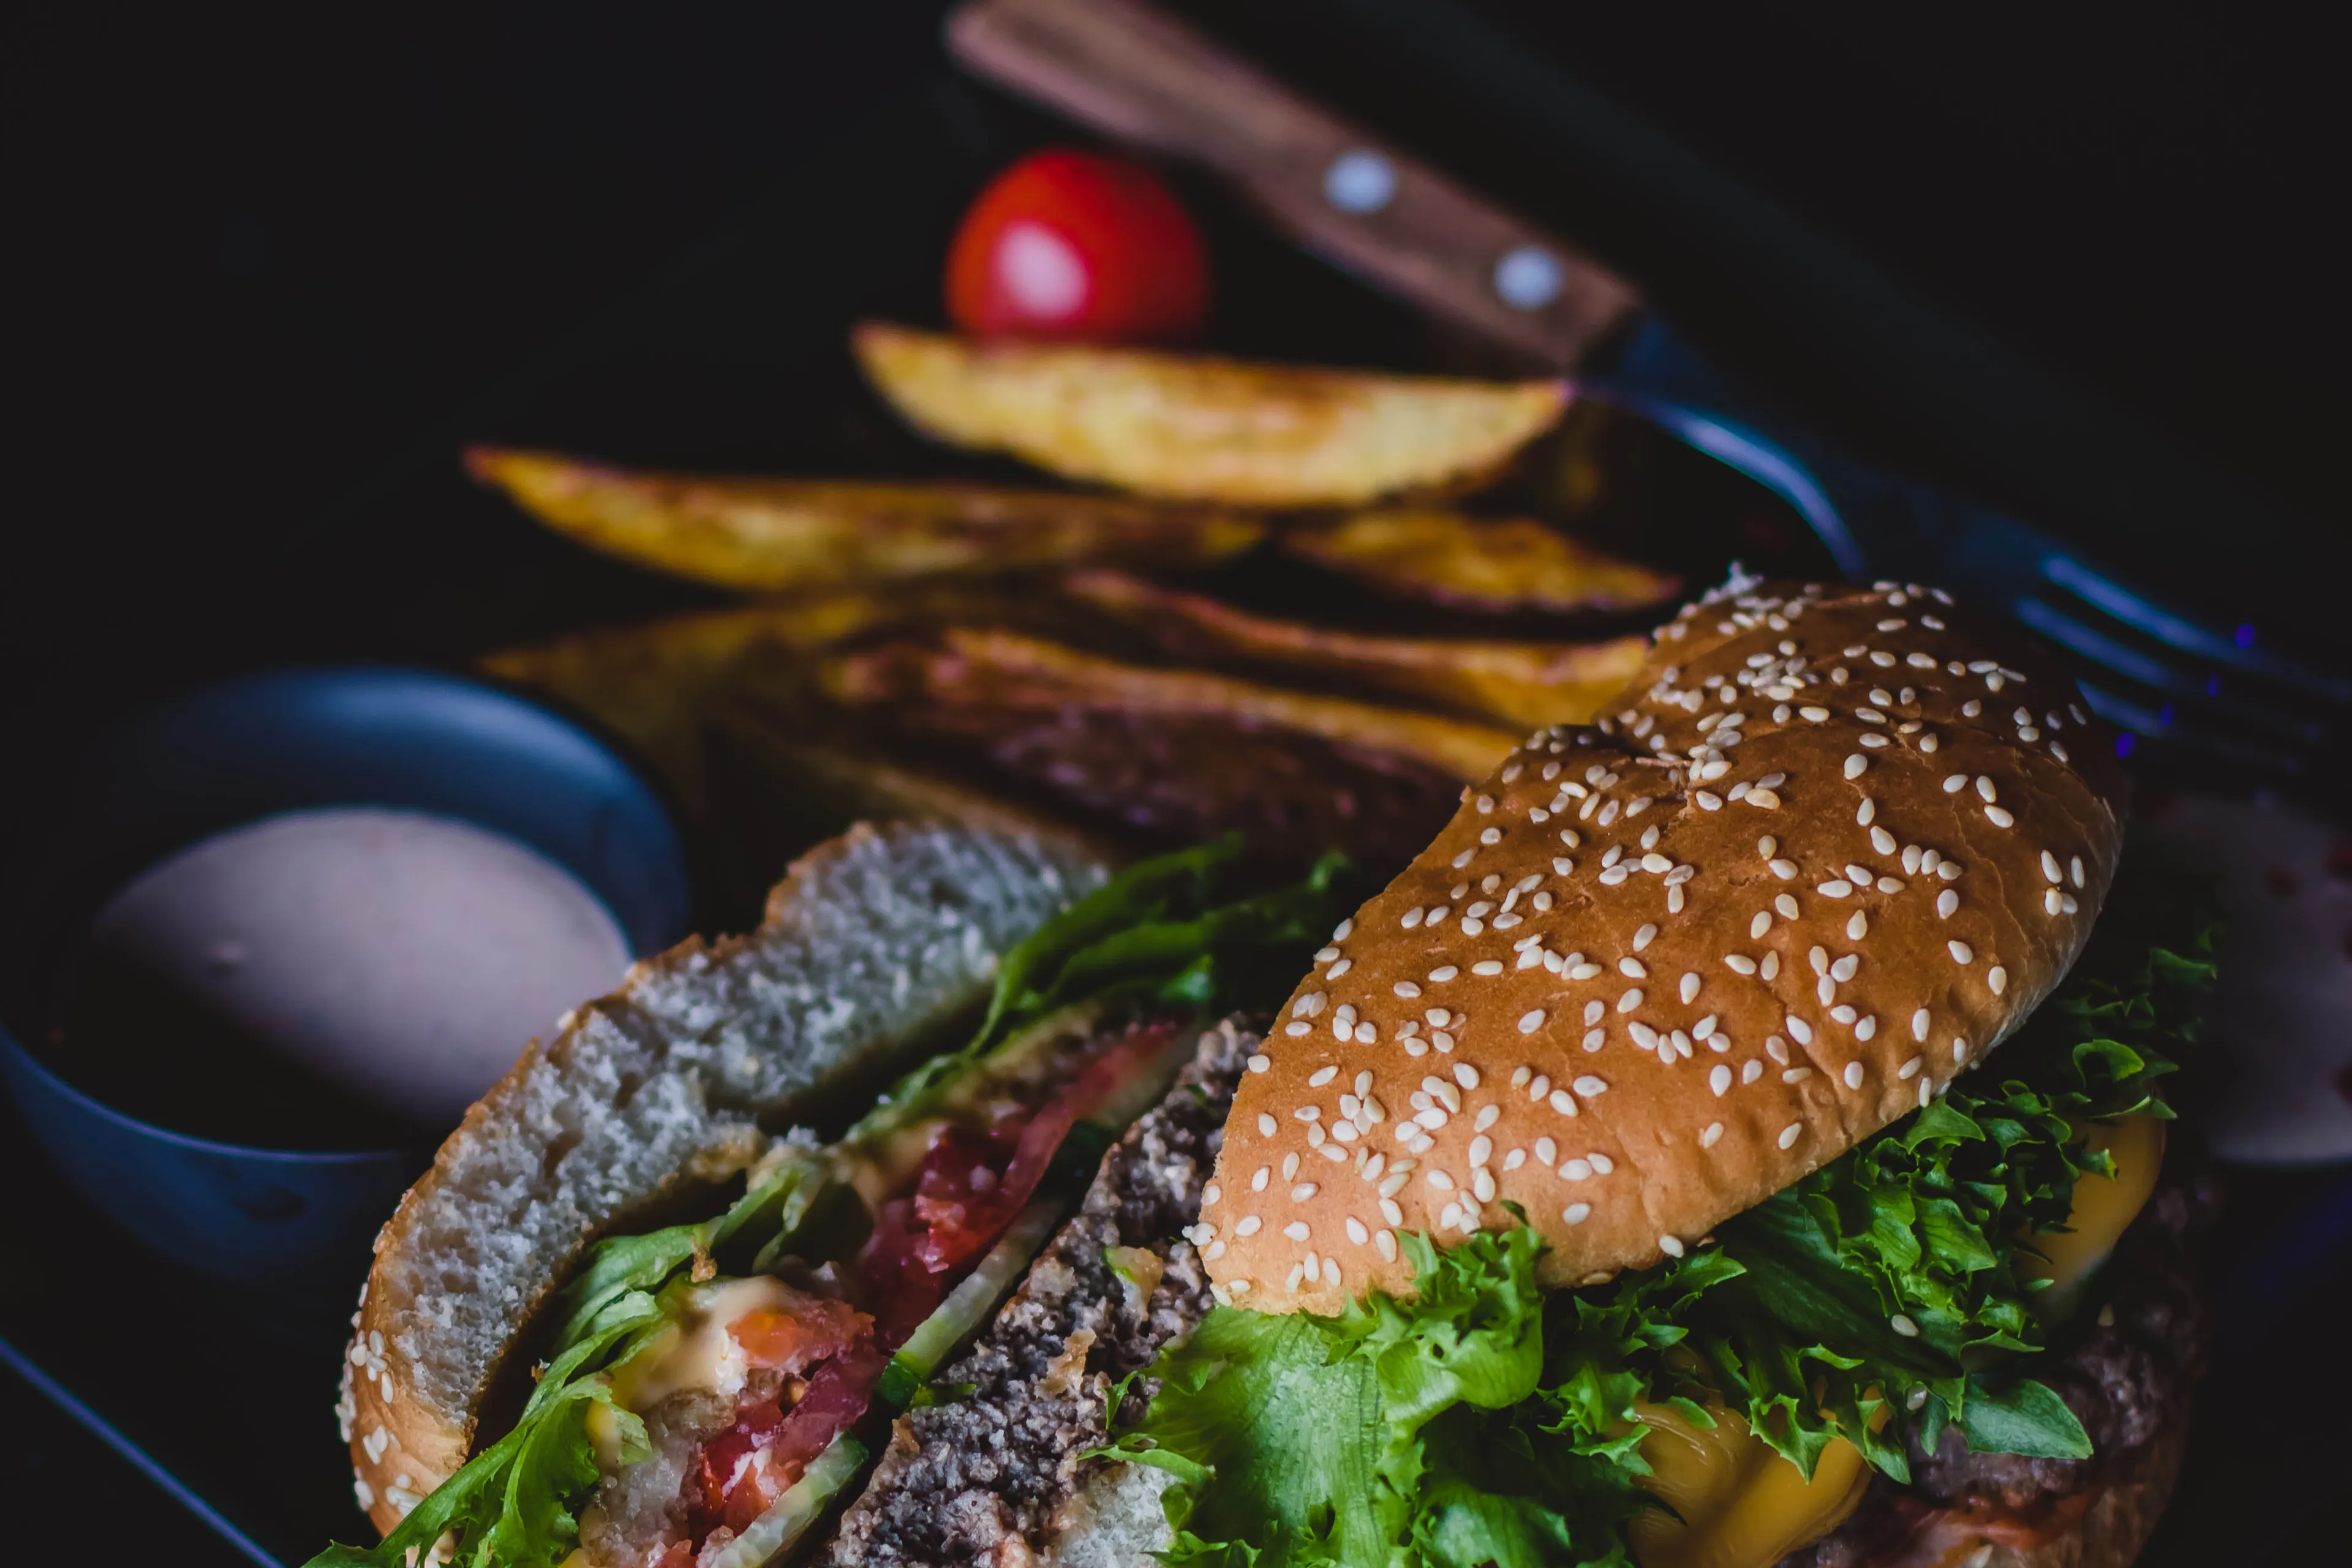
[{"label": "round dark blue bowl holding creamy sauce", "polygon": [[466,1105],[689,924],[628,757],[440,670],[205,686],[54,783],[0,867],[0,1084],[125,1232],[273,1300],[346,1298]]}]

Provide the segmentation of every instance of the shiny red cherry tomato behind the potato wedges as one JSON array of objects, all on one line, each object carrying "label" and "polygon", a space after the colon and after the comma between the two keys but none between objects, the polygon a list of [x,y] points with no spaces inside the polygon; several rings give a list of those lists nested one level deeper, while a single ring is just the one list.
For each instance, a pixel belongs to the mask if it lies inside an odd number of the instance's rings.
[{"label": "shiny red cherry tomato behind the potato wedges", "polygon": [[1207,315],[1200,230],[1120,158],[1030,153],[981,190],[948,249],[948,317],[974,336],[1181,343]]}]

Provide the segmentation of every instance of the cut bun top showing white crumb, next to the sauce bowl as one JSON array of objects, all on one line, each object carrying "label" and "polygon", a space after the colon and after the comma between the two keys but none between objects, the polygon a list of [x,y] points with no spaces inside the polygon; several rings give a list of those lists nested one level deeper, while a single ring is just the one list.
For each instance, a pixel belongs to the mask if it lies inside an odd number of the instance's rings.
[{"label": "cut bun top showing white crumb, next to the sauce bowl", "polygon": [[532,1041],[376,1237],[339,1403],[376,1528],[466,1462],[515,1335],[590,1241],[743,1171],[762,1121],[978,1004],[1101,875],[1037,839],[856,827],[793,865],[757,931],[635,964]]}]

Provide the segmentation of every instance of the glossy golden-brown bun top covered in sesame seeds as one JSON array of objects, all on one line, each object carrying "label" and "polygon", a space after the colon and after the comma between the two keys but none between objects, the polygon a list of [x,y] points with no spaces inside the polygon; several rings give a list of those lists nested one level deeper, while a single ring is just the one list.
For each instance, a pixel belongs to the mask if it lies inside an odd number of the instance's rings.
[{"label": "glossy golden-brown bun top covered in sesame seeds", "polygon": [[1211,1276],[1331,1312],[1411,1286],[1397,1232],[1505,1201],[1545,1284],[1679,1255],[2051,992],[2119,788],[2072,679],[1943,595],[1686,607],[1616,717],[1529,736],[1317,957],[1225,1124]]}]

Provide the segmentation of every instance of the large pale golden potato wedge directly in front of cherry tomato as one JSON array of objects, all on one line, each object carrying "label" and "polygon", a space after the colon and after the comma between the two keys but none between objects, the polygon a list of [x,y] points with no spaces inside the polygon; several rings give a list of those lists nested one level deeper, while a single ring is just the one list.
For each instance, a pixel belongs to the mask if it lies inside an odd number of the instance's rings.
[{"label": "large pale golden potato wedge directly in front of cherry tomato", "polygon": [[1070,480],[1235,505],[1364,505],[1498,468],[1559,421],[1562,381],[1378,376],[884,322],[858,364],[915,428]]}]

